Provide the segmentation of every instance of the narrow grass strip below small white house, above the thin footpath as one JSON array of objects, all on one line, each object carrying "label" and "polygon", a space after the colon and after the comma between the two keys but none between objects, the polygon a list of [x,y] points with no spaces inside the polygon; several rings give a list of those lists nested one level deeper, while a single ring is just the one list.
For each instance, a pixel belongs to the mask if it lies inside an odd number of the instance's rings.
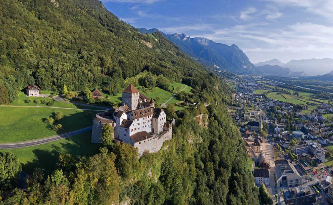
[{"label": "narrow grass strip below small white house, above the thin footpath", "polygon": [[[49,94],[49,93],[45,93],[45,94]],[[30,103],[26,103],[24,102],[25,99],[31,99]],[[47,100],[50,101],[50,98],[44,98],[44,97],[27,97],[24,92],[20,92],[16,98],[16,100],[14,100],[14,102],[12,103],[12,105],[16,105],[16,106],[37,106],[36,103],[34,103],[33,101],[35,99],[39,99],[39,100]],[[48,107],[47,105],[44,104],[39,104],[40,106],[43,107]],[[79,109],[91,109],[91,110],[100,110],[100,108],[93,108],[93,107],[88,107],[88,106],[81,106],[81,105],[74,105],[72,103],[65,103],[65,102],[59,102],[59,101],[54,101],[54,104],[51,105],[51,107],[63,107],[63,108],[79,108]]]}]

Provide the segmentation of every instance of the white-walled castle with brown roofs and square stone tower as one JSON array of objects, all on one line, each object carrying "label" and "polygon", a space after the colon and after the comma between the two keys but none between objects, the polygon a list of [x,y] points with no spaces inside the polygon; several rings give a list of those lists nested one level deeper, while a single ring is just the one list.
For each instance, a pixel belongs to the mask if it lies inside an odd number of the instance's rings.
[{"label": "white-walled castle with brown roofs and square stone tower", "polygon": [[145,151],[158,152],[164,141],[172,139],[172,126],[166,114],[155,108],[155,102],[140,93],[132,84],[123,90],[122,106],[113,112],[96,114],[93,120],[92,143],[101,143],[102,127],[106,123],[114,128],[114,141],[129,143]]}]

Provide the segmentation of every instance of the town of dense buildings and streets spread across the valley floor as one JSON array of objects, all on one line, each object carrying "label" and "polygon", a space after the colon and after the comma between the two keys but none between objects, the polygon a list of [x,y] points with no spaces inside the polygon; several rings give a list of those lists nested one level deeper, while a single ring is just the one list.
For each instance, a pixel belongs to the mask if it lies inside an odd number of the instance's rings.
[{"label": "town of dense buildings and streets spread across the valley floor", "polygon": [[228,80],[237,91],[228,111],[239,126],[256,186],[263,183],[278,204],[333,204],[333,106],[295,105],[288,97],[297,91],[261,80]]}]

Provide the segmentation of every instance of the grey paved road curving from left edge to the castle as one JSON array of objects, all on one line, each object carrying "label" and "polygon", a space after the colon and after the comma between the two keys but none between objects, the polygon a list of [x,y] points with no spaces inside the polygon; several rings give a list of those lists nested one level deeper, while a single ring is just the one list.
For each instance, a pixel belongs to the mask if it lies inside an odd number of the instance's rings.
[{"label": "grey paved road curving from left edge to the castle", "polygon": [[72,132],[54,135],[46,138],[36,139],[36,140],[28,140],[28,141],[22,141],[22,142],[13,142],[13,143],[2,143],[0,144],[0,150],[3,149],[16,149],[16,148],[24,148],[24,147],[32,147],[36,145],[42,145],[49,142],[54,142],[57,140],[61,140],[64,138],[72,137],[74,135],[82,134],[85,132],[88,132],[92,130],[93,126],[82,128],[80,130],[75,130]]}]

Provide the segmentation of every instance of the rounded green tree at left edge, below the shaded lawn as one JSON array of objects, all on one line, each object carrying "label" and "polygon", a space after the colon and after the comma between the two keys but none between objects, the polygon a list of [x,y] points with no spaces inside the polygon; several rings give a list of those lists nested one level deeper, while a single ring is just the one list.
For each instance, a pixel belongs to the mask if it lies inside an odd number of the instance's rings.
[{"label": "rounded green tree at left edge, below the shaded lawn", "polygon": [[20,179],[22,165],[12,153],[0,152],[0,190],[13,187]]}]

